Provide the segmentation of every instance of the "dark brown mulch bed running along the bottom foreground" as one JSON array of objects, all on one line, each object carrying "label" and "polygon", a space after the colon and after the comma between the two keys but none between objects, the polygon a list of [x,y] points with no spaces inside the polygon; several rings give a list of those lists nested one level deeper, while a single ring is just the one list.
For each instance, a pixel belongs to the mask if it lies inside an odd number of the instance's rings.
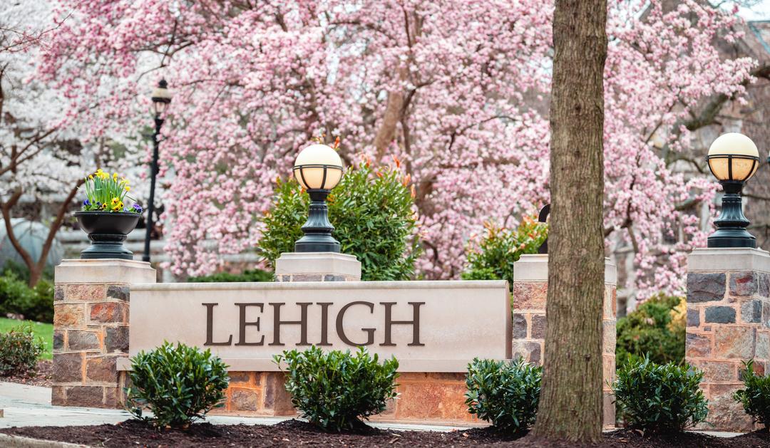
[{"label": "dark brown mulch bed running along the bottom foreground", "polygon": [[[450,433],[432,431],[390,431],[370,427],[354,433],[331,434],[298,420],[289,420],[274,426],[217,425],[196,423],[189,430],[157,432],[137,420],[116,425],[98,426],[30,426],[0,430],[0,433],[35,439],[82,443],[91,446],[513,446],[516,448],[567,448],[574,443],[552,443],[501,436],[490,428],[457,430]],[[643,436],[634,430],[616,430],[604,433],[604,441],[594,447],[656,447],[656,448],[748,448],[770,446],[770,434],[748,433],[738,437],[721,438],[698,433],[676,436]]]}]

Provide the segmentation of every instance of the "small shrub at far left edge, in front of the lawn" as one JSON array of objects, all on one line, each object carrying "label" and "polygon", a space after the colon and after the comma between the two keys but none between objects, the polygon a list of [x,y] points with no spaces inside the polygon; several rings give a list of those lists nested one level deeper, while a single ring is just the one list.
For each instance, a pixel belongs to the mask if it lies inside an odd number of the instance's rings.
[{"label": "small shrub at far left edge, in front of the lawn", "polygon": [[0,333],[0,376],[34,373],[42,351],[43,340],[35,337],[30,323]]}]

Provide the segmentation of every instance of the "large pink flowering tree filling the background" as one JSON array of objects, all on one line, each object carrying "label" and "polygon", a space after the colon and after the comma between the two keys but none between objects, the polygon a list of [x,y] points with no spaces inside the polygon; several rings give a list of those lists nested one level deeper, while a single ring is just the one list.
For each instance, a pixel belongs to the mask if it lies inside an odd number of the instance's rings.
[{"label": "large pink flowering tree filling the background", "polygon": [[[256,246],[276,176],[320,133],[342,136],[348,164],[400,160],[427,278],[456,278],[485,221],[514,226],[549,200],[548,2],[59,2],[69,19],[41,74],[92,135],[130,128],[160,76],[176,91],[161,145],[176,273]],[[734,15],[646,3],[611,2],[605,233],[608,252],[631,244],[651,293],[682,288],[684,255],[705,242],[697,206],[715,192],[677,155],[713,122],[695,121],[704,105],[740,100],[758,67],[715,48],[739,37]]]}]

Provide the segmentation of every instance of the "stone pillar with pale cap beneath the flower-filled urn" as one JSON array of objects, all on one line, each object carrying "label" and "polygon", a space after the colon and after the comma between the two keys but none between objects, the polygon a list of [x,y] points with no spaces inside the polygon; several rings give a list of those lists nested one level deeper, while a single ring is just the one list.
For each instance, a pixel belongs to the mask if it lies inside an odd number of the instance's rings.
[{"label": "stone pillar with pale cap beneath the flower-filled urn", "polygon": [[155,283],[155,269],[126,259],[65,259],[54,278],[52,404],[119,407],[115,364],[129,353],[129,285]]}]

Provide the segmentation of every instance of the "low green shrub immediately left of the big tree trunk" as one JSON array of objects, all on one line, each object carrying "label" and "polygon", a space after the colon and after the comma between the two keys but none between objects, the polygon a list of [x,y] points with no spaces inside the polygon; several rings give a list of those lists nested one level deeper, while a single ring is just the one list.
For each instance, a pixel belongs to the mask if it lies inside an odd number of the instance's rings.
[{"label": "low green shrub immediately left of the big tree trunk", "polygon": [[474,359],[465,378],[468,412],[501,431],[527,431],[534,424],[542,376],[541,366],[522,358],[508,363]]}]

